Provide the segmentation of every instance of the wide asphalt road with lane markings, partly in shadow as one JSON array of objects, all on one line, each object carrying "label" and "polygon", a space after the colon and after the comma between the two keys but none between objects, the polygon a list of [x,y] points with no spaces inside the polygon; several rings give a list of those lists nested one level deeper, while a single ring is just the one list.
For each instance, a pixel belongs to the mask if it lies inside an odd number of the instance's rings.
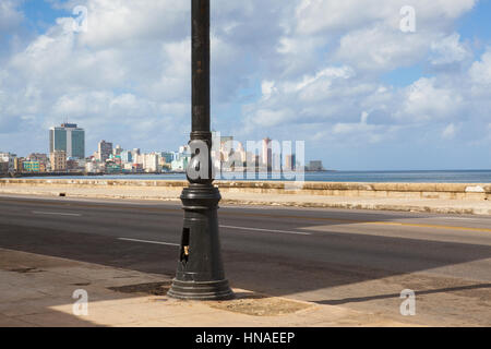
[{"label": "wide asphalt road with lane markings, partly in shadow", "polygon": [[[178,203],[0,196],[0,248],[173,275]],[[491,326],[491,217],[228,206],[232,287],[383,314]],[[417,314],[399,312],[416,292]]]}]

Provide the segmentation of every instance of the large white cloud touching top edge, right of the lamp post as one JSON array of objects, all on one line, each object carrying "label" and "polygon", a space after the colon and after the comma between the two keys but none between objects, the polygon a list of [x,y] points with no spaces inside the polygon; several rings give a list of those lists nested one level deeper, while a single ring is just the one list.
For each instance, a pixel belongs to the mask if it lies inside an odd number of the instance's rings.
[{"label": "large white cloud touching top edge, right of the lamp post", "polygon": [[[399,0],[303,0],[297,8],[297,38],[324,37],[333,46],[338,40],[333,59],[368,71],[391,71],[420,61],[448,35],[453,21],[471,10],[474,0],[415,0],[416,33],[400,31],[399,10],[407,5]],[[284,38],[284,40],[287,40]],[[454,57],[462,52],[454,49]]]}]

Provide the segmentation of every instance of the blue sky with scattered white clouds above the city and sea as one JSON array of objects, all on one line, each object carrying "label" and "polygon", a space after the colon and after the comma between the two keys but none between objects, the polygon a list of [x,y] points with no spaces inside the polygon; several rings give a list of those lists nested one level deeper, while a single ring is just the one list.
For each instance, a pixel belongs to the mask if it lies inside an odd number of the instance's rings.
[{"label": "blue sky with scattered white clouds above the city and sea", "polygon": [[[177,149],[190,129],[190,1],[2,0],[0,151],[49,127]],[[73,9],[87,9],[86,32]],[[403,5],[416,32],[403,33]],[[491,168],[490,0],[215,0],[213,128],[306,141],[339,170]]]}]

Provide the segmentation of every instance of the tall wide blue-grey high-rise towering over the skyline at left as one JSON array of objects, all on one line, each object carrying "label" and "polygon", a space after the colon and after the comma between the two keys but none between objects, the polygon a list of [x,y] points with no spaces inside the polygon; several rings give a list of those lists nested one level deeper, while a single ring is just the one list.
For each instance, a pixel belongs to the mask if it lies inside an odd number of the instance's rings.
[{"label": "tall wide blue-grey high-rise towering over the skyline at left", "polygon": [[75,123],[62,123],[49,130],[49,153],[62,151],[68,157],[85,158],[85,130]]}]

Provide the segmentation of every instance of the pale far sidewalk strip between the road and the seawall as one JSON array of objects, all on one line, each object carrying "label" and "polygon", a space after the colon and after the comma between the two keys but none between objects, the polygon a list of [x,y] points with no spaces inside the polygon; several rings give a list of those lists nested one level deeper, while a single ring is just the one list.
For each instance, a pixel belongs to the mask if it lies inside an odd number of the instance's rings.
[{"label": "pale far sidewalk strip between the road and the seawall", "polygon": [[[0,186],[1,194],[39,195],[79,198],[122,198],[179,201],[180,188],[166,186]],[[404,198],[404,197],[357,197],[325,196],[306,194],[271,194],[221,191],[221,204],[265,205],[318,208],[378,209],[435,214],[491,215],[491,201],[482,200],[441,200],[441,198]]]}]

